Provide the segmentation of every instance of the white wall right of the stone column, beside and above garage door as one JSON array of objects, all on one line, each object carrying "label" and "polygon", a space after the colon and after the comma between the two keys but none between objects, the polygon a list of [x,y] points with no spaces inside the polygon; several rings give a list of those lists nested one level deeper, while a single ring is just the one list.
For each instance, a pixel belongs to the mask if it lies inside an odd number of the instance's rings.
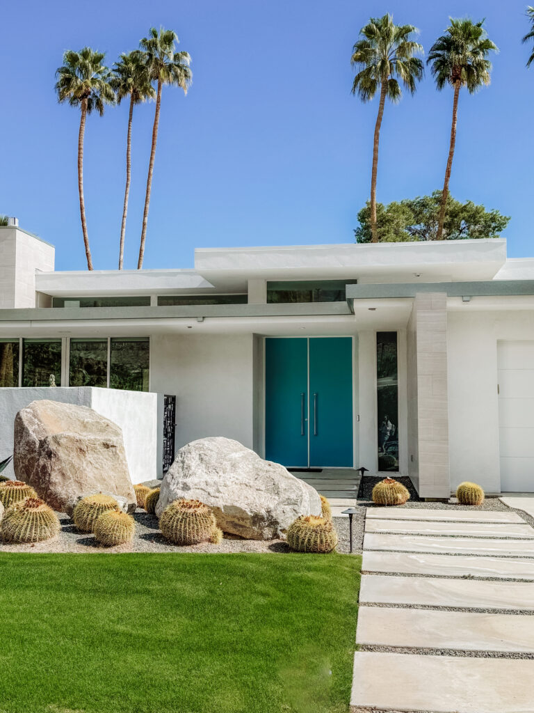
[{"label": "white wall right of the stone column, beside and above garage door", "polygon": [[449,312],[449,448],[451,489],[461,481],[501,492],[498,340],[532,341],[534,313]]}]

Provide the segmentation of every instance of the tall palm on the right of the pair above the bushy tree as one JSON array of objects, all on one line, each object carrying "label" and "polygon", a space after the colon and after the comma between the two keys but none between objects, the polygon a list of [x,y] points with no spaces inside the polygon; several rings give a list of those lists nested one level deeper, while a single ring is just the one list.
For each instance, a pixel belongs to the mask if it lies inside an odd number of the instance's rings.
[{"label": "tall palm on the right of the pair above the bushy tree", "polygon": [[438,230],[436,240],[442,240],[445,208],[449,195],[452,159],[456,144],[456,121],[458,118],[458,98],[461,87],[465,86],[470,94],[490,83],[491,62],[488,54],[498,51],[498,48],[488,38],[483,29],[483,20],[473,23],[469,18],[452,19],[445,34],[438,37],[430,48],[427,64],[431,64],[431,72],[436,80],[439,91],[447,84],[454,87],[452,103],[451,140],[449,143],[449,158],[445,169],[445,181],[441,193],[441,208],[439,210]]}]

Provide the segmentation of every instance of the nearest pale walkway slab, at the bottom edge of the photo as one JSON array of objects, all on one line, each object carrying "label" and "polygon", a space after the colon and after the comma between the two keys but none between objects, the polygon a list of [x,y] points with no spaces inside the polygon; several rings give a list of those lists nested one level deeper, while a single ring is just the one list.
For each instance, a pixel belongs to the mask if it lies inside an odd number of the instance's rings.
[{"label": "nearest pale walkway slab, at the bottom edge of the photo", "polygon": [[433,713],[533,713],[534,660],[357,651],[350,704]]}]

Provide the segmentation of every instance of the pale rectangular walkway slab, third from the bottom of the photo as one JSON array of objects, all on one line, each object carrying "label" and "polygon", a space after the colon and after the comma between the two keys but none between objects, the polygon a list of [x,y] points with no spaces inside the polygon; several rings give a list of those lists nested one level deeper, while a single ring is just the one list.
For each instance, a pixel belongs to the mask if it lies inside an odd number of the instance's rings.
[{"label": "pale rectangular walkway slab, third from the bottom of the photo", "polygon": [[534,584],[362,575],[360,605],[362,604],[534,611]]}]

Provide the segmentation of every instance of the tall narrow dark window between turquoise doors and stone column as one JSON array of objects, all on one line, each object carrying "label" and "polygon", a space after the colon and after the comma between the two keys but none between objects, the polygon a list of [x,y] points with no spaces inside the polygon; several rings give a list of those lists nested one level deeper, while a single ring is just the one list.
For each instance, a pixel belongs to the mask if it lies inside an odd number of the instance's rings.
[{"label": "tall narrow dark window between turquoise doors and stone column", "polygon": [[377,332],[378,470],[399,470],[397,332]]}]

